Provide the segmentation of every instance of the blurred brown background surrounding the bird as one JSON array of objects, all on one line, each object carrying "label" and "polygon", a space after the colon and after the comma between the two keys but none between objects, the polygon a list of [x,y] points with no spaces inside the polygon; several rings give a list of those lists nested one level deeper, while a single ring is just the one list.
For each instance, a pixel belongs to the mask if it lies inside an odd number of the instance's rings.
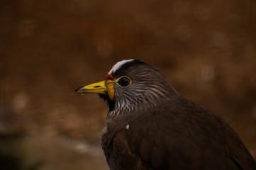
[{"label": "blurred brown background surrounding the bird", "polygon": [[74,93],[123,59],[162,70],[256,157],[256,1],[2,0],[0,169],[108,169],[108,108]]}]

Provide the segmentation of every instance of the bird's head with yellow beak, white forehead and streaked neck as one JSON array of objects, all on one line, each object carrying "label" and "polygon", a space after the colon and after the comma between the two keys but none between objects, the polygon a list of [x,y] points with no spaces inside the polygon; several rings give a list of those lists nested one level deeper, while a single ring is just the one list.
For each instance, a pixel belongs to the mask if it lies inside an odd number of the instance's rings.
[{"label": "bird's head with yellow beak, white forehead and streaked neck", "polygon": [[142,60],[117,62],[104,81],[82,86],[79,94],[99,94],[112,113],[139,111],[169,102],[179,96],[159,69]]}]

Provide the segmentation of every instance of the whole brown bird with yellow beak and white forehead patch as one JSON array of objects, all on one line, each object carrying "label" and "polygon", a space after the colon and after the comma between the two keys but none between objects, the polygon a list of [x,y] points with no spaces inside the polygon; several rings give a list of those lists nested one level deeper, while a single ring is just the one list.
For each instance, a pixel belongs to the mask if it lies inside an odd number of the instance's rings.
[{"label": "whole brown bird with yellow beak and white forehead patch", "polygon": [[101,147],[111,170],[256,169],[217,113],[183,97],[143,60],[117,62],[104,81],[76,92],[99,94],[108,104]]}]

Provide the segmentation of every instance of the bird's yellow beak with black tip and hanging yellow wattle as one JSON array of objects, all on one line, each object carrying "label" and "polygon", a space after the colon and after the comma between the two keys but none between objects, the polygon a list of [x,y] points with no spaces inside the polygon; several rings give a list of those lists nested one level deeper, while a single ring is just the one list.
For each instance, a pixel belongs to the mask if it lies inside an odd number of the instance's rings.
[{"label": "bird's yellow beak with black tip and hanging yellow wattle", "polygon": [[108,95],[110,100],[113,101],[115,91],[113,89],[114,80],[100,81],[95,84],[82,86],[76,90],[78,94],[105,94]]}]

